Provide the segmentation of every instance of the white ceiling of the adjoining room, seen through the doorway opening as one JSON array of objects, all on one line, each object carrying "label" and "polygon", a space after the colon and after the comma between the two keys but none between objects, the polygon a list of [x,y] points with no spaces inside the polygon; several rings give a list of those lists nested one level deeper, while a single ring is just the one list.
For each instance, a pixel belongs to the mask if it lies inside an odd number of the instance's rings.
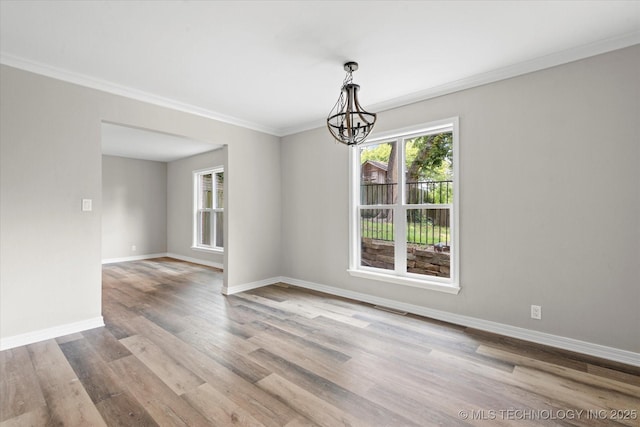
[{"label": "white ceiling of the adjoining room, seen through the doorway opening", "polygon": [[102,154],[171,162],[222,147],[177,135],[102,123]]}]

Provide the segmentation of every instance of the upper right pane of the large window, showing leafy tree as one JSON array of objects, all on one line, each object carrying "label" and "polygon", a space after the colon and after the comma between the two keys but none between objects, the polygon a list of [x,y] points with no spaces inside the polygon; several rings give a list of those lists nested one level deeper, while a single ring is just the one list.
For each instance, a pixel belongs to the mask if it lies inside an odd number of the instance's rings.
[{"label": "upper right pane of the large window, showing leafy tree", "polygon": [[406,140],[405,172],[407,204],[453,203],[453,134]]}]

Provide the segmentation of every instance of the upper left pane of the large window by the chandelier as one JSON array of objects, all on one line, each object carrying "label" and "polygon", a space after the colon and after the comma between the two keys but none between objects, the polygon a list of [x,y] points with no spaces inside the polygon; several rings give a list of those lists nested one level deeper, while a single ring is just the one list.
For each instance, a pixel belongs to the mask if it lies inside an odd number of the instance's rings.
[{"label": "upper left pane of the large window by the chandelier", "polygon": [[395,142],[360,148],[360,203],[391,205],[398,197],[398,162]]}]

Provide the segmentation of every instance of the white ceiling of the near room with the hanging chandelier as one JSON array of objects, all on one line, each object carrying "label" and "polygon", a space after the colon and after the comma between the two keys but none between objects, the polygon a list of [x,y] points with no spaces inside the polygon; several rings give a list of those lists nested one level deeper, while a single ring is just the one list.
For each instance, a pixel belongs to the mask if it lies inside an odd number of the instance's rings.
[{"label": "white ceiling of the near room with the hanging chandelier", "polygon": [[0,60],[274,135],[640,43],[638,1],[0,1]]}]

